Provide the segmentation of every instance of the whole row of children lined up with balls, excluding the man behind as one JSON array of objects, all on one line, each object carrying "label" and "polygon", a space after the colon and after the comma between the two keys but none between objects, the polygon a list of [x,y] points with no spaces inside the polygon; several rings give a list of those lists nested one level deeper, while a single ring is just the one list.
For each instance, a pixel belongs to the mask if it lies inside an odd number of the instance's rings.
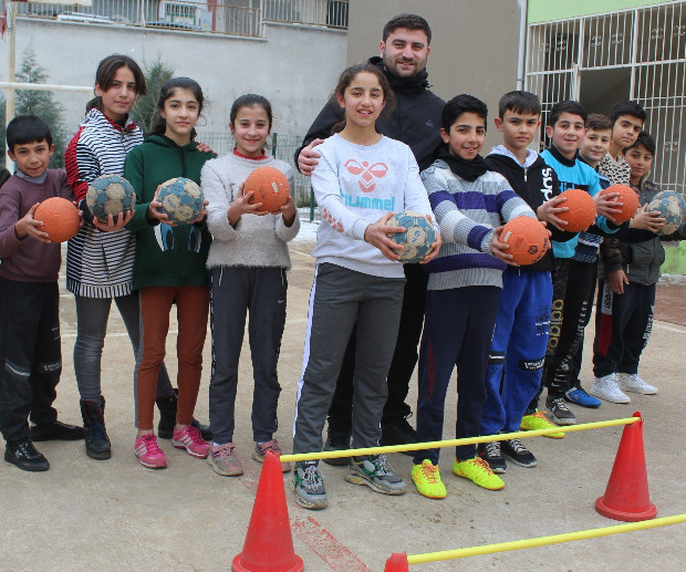
[{"label": "whole row of children lined up with balls, excluding the man behind", "polygon": [[[157,440],[166,437],[174,447],[207,458],[219,475],[242,474],[233,429],[247,312],[254,376],[252,457],[261,461],[268,451],[281,450],[274,438],[281,392],[277,363],[291,266],[287,242],[297,236],[300,221],[292,198],[271,214],[251,204],[245,190],[248,175],[261,166],[280,169],[293,186],[292,169],[264,152],[271,106],[259,95],[239,97],[229,122],[236,147],[215,158],[195,141],[204,106],[195,81],[176,77],[162,87],[157,123],[144,139],[128,112],[145,92],[133,60],[112,55],[101,62],[96,97],[65,154],[66,174],[48,169],[53,147],[42,121],[17,117],[8,126],[17,173],[0,191],[0,416],[4,458],[24,470],[49,468],[33,446],[41,438],[77,439],[85,431],[90,457],[111,456],[100,360],[113,300],[136,356],[134,450],[143,466],[167,466]],[[378,444],[405,283],[402,247],[389,238],[403,229],[386,223],[403,210],[427,217],[438,236],[423,260],[429,278],[418,365],[418,441],[441,438],[455,367],[458,438],[553,427],[538,408],[544,387],[547,408],[559,425],[575,423],[567,403],[597,407],[595,397],[626,403],[624,391],[657,392],[638,377],[638,358],[664,259],[659,240],[684,238],[684,229],[658,237],[665,221],[645,207],[631,222],[616,225],[617,195],[600,194],[611,183],[626,183],[646,205],[658,190],[646,180],[655,143],[641,131],[645,112],[638,105],[621,102],[607,117],[588,116],[579,103],[561,102],[545,126],[550,147],[539,155],[528,147],[540,128],[540,102],[531,93],[510,92],[495,119],[503,143],[484,158],[487,107],[461,94],[445,105],[443,143],[434,164],[419,173],[407,145],[377,133],[376,119],[393,106],[393,92],[377,66],[345,70],[334,98],[344,119],[318,147],[321,157],[312,173],[322,223],[312,251],[316,267],[298,382],[294,453],[322,450],[326,413],[353,327],[352,445]],[[123,175],[132,183],[137,194],[133,212],[107,221],[90,215],[85,194],[101,175]],[[160,210],[159,185],[173,177],[187,177],[204,190],[205,209],[190,225],[175,226]],[[593,196],[599,214],[581,233],[567,231],[559,217],[568,210],[560,194],[570,188]],[[61,371],[60,247],[33,219],[35,206],[49,196],[75,199],[84,219],[70,240],[66,260],[66,285],[76,300],[74,367],[83,429],[58,422],[51,407]],[[552,251],[529,267],[513,262],[500,236],[502,225],[521,216],[545,222],[552,239]],[[579,371],[599,247],[596,378],[589,395]],[[174,304],[179,321],[177,389],[164,366]],[[210,427],[194,418],[208,315]],[[157,435],[155,403],[160,412]],[[458,447],[453,471],[484,488],[501,489],[498,474],[506,472],[506,457],[524,467],[537,464],[531,451],[511,439]],[[282,464],[282,469],[291,467]],[[352,457],[345,479],[386,495],[406,490],[383,455]],[[415,454],[412,479],[426,497],[446,496],[438,449]],[[292,483],[301,506],[326,506],[318,461],[295,464]]]}]

